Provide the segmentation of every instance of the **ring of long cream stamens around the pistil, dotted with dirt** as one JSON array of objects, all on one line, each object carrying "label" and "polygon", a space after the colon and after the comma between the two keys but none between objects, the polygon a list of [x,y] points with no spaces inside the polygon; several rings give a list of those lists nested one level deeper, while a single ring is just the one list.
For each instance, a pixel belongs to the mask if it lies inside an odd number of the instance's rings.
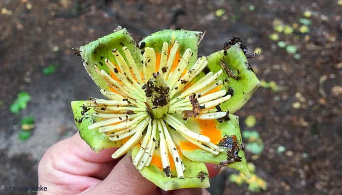
[{"label": "ring of long cream stamens around the pistil, dotted with dirt", "polygon": [[171,155],[177,177],[182,178],[185,167],[170,134],[171,128],[205,151],[215,155],[223,152],[221,146],[189,129],[178,117],[181,114],[184,119],[213,120],[227,116],[227,112],[215,108],[230,98],[226,90],[220,90],[222,81],[218,77],[222,70],[206,73],[197,82],[192,82],[208,62],[206,57],[200,57],[188,68],[193,54],[191,49],[186,49],[178,62],[178,41],[170,50],[168,43],[163,43],[158,64],[154,49],[145,48],[142,73],[130,50],[127,47],[122,50],[125,58],[117,49],[112,51],[115,64],[109,59],[104,60],[110,73],[97,69],[110,89],[101,89],[100,92],[110,100],[91,98],[84,104],[93,107],[93,115],[101,119],[91,124],[89,129],[98,128],[111,141],[125,140],[112,157],[118,158],[138,144],[140,148],[133,160],[137,169],[149,166],[153,155],[158,154],[165,176],[171,177]]}]

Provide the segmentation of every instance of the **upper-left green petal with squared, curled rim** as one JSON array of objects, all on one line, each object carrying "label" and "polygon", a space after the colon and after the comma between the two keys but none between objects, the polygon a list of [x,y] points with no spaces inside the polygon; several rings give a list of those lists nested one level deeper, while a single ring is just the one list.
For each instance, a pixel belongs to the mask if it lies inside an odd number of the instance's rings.
[{"label": "upper-left green petal with squared, curled rim", "polygon": [[[109,90],[106,82],[103,78],[95,71],[94,65],[99,70],[104,70],[110,75],[106,64],[104,63],[105,58],[116,63],[114,55],[112,54],[113,49],[118,49],[120,54],[125,58],[125,54],[122,51],[122,47],[126,46],[137,64],[140,66],[140,49],[136,47],[136,43],[127,32],[126,28],[118,30],[112,34],[101,37],[89,44],[80,48],[82,59],[84,60],[84,66],[94,80],[97,86],[101,89]],[[126,59],[126,58],[125,58]]]}]

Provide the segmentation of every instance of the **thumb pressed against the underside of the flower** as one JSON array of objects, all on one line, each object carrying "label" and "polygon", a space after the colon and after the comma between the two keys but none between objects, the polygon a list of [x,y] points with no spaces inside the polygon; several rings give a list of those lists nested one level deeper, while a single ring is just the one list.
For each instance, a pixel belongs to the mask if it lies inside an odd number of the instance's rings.
[{"label": "thumb pressed against the underside of the flower", "polygon": [[125,155],[102,182],[82,195],[147,195],[156,188],[137,171],[132,158]]}]

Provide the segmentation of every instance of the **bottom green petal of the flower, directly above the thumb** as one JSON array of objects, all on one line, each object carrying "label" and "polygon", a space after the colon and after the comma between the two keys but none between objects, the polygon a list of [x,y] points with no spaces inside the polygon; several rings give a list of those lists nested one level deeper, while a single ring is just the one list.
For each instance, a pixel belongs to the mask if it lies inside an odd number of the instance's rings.
[{"label": "bottom green petal of the flower, directly above the thumb", "polygon": [[[138,146],[132,148],[132,159],[135,158],[138,150]],[[148,167],[144,167],[139,172],[142,176],[156,184],[164,191],[182,188],[210,187],[209,174],[204,163],[193,162],[185,157],[183,157],[182,161],[185,166],[183,179],[177,177],[165,177],[164,172],[152,163]]]}]

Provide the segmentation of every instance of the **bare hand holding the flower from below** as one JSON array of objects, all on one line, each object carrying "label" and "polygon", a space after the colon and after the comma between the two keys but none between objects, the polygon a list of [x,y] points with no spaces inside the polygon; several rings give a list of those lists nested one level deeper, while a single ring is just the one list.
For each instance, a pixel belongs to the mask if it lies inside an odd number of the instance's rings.
[{"label": "bare hand holding the flower from below", "polygon": [[[209,195],[201,188],[164,192],[145,179],[128,155],[112,159],[116,148],[95,153],[76,133],[51,146],[38,166],[38,195]],[[206,164],[209,176],[218,171]]]}]

